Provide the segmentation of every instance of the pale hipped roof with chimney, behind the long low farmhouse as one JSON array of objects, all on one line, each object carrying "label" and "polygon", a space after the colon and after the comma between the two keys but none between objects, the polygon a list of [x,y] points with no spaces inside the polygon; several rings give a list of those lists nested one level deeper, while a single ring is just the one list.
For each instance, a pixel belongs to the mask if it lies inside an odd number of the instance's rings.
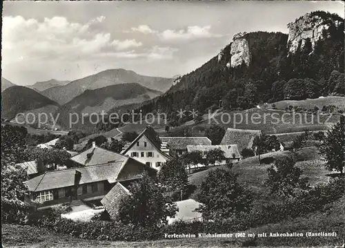
[{"label": "pale hipped roof with chimney, behind the long low farmhouse", "polygon": [[[88,158],[88,154],[90,154],[90,158]],[[115,161],[127,161],[128,157],[95,146],[73,156],[72,158],[70,158],[70,160],[81,165],[92,166],[96,164],[106,164]]]}]

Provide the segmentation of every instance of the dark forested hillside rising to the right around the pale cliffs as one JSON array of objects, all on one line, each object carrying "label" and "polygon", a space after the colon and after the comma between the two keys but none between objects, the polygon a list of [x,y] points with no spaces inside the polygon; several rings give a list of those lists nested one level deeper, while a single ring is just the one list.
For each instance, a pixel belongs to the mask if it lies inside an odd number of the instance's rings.
[{"label": "dark forested hillside rising to the right around the pale cliffs", "polygon": [[308,17],[322,19],[327,28],[315,44],[309,38],[301,39],[291,53],[288,35],[281,32],[239,34],[233,43],[246,40],[249,51],[242,52],[250,53],[248,66],[244,62],[230,64],[229,44],[197,70],[175,79],[175,86],[167,93],[136,111],[161,111],[175,119],[179,108],[205,113],[218,106],[235,110],[283,99],[344,96],[344,19],[328,12],[312,12]]}]

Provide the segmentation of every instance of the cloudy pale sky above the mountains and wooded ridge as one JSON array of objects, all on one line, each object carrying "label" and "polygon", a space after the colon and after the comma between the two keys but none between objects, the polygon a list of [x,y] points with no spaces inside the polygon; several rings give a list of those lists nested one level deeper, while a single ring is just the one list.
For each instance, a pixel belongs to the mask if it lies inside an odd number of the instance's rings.
[{"label": "cloudy pale sky above the mountains and wooded ridge", "polygon": [[195,70],[238,32],[287,23],[340,1],[4,1],[1,75],[18,85],[124,68],[173,77]]}]

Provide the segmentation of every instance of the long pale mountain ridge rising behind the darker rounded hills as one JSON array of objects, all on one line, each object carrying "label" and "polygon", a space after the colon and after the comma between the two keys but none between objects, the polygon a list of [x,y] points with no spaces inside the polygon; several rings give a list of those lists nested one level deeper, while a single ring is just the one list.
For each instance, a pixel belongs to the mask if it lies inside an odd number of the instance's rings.
[{"label": "long pale mountain ridge rising behind the darker rounded hills", "polygon": [[132,70],[111,69],[74,80],[64,86],[48,88],[41,93],[63,105],[74,97],[81,95],[85,90],[95,90],[97,88],[116,84],[137,83],[147,88],[165,92],[172,86],[172,81],[173,79],[170,78],[139,75]]}]

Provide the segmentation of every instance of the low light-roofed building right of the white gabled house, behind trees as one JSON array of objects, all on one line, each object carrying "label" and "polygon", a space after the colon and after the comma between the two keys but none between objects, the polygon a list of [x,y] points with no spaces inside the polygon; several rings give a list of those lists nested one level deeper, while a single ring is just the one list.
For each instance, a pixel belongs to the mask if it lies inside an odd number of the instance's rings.
[{"label": "low light-roofed building right of the white gabled house, behind trees", "polygon": [[[239,154],[237,149],[237,144],[187,146],[188,153],[193,151],[201,151],[202,153],[205,153],[214,149],[224,151],[224,157],[230,162],[238,162],[242,159],[242,156]],[[226,160],[217,162],[217,164],[226,164]]]}]

